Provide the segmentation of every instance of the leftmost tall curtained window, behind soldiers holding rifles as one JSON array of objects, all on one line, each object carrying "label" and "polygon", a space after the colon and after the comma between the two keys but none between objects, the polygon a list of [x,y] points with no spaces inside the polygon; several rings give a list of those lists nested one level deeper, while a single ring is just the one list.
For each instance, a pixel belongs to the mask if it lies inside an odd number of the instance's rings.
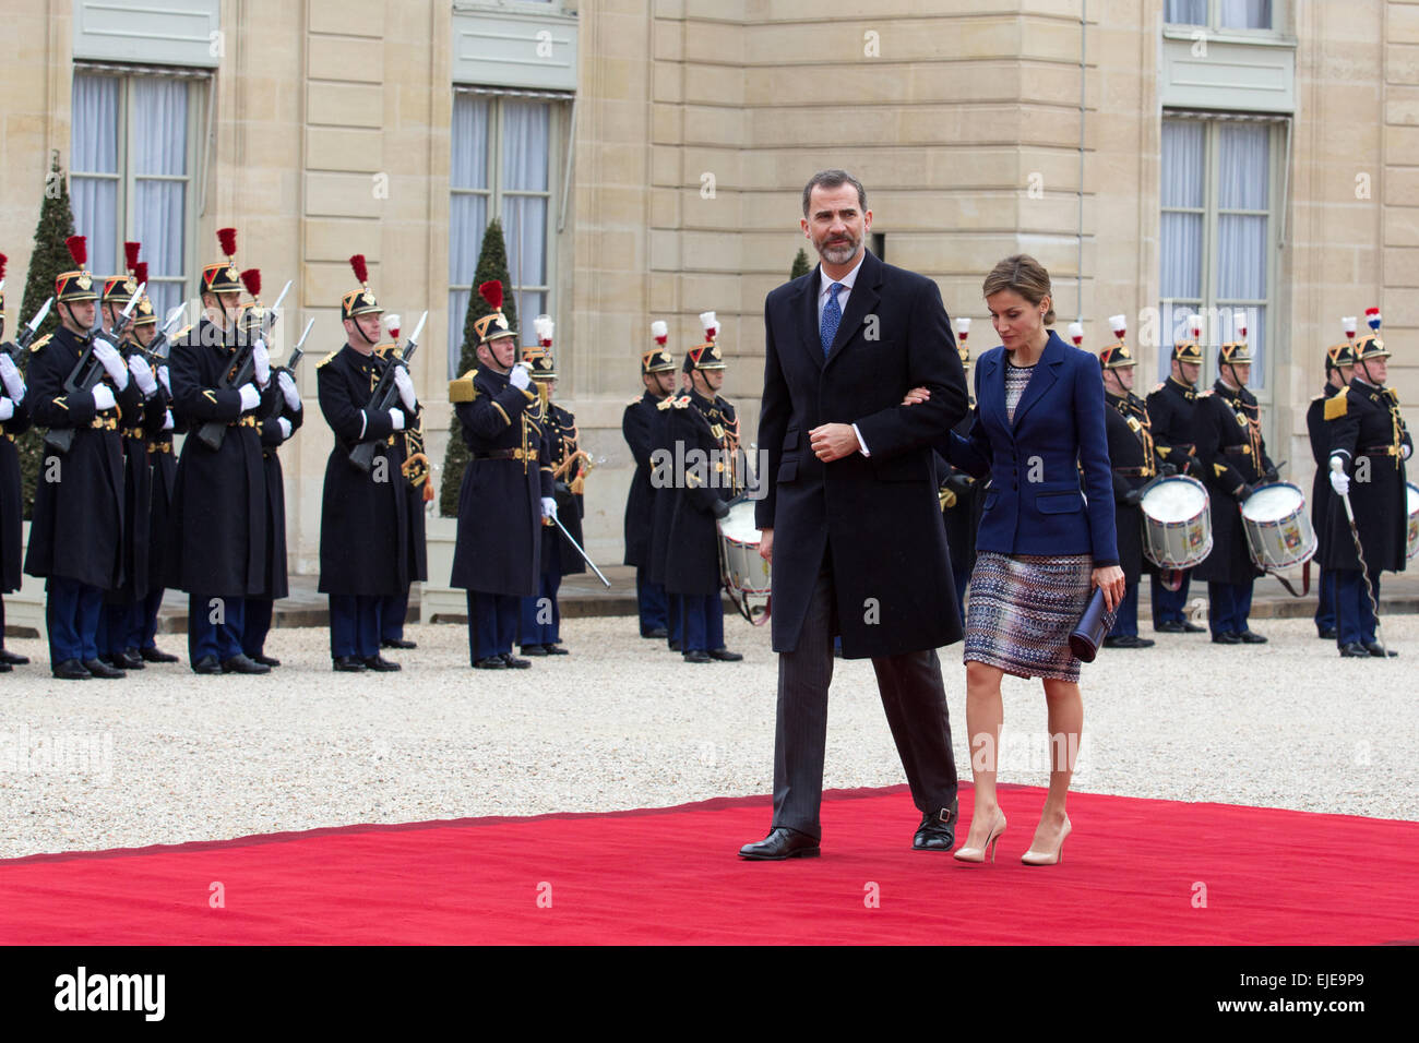
[{"label": "leftmost tall curtained window, behind soldiers holding rifles", "polygon": [[74,74],[71,197],[95,275],[123,271],[123,241],[143,244],[159,315],[182,302],[193,238],[196,116],[201,79]]}]

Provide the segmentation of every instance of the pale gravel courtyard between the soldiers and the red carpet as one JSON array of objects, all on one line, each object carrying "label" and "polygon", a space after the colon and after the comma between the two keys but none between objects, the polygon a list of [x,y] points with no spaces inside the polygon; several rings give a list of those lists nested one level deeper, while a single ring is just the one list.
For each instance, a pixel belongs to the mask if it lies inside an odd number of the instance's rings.
[{"label": "pale gravel courtyard between the soldiers and the red carpet", "polygon": [[[267,677],[150,666],[125,683],[54,681],[41,641],[11,640],[34,663],[0,675],[0,857],[766,793],[776,660],[766,629],[725,626],[744,663],[573,619],[573,654],[525,671],[473,671],[463,627],[414,626],[403,673],[335,674],[328,633],[291,629]],[[1341,660],[1308,620],[1257,629],[1270,644],[1159,634],[1086,667],[1076,788],[1419,819],[1419,617],[1386,622],[1403,650],[1388,663]],[[944,670],[969,779],[959,654]],[[1000,780],[1044,785],[1039,683],[1006,678],[1005,702]],[[837,664],[827,746],[829,788],[904,782],[866,660]]]}]

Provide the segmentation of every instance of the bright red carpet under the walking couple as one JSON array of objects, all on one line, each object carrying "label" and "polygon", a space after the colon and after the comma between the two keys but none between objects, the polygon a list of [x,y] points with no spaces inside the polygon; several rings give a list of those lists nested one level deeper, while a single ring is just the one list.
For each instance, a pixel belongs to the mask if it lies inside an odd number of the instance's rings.
[{"label": "bright red carpet under the walking couple", "polygon": [[768,798],[43,854],[0,861],[0,944],[1419,938],[1419,823],[1074,793],[1063,864],[1030,868],[1042,802],[1002,788],[995,866],[911,851],[904,786],[829,793],[823,857],[788,863],[734,857]]}]

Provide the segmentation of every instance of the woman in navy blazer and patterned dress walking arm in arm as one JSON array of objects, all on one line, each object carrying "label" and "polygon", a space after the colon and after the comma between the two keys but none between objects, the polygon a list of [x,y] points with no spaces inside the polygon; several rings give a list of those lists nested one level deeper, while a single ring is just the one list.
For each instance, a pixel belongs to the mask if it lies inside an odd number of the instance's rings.
[{"label": "woman in navy blazer and patterned dress walking arm in arm", "polygon": [[1009,673],[1044,683],[1050,792],[1023,861],[1049,866],[1059,861],[1070,832],[1064,802],[1084,722],[1069,634],[1095,586],[1104,589],[1110,612],[1124,596],[1104,389],[1098,359],[1046,328],[1054,311],[1049,272],[1039,261],[1025,254],[1000,261],[983,291],[1002,343],[976,363],[971,434],[951,434],[949,444],[938,446],[956,467],[990,477],[964,656],[975,812],[955,857],[985,861],[989,851],[993,861],[1005,833],[995,782],[1000,680]]}]

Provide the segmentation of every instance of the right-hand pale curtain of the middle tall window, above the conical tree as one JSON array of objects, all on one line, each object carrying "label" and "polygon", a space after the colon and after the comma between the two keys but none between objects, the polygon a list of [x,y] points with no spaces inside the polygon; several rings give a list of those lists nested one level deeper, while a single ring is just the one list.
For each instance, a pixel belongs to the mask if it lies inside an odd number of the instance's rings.
[{"label": "right-hand pale curtain of the middle tall window, above the conical tree", "polygon": [[[548,192],[552,106],[546,102],[502,102],[504,193]],[[505,194],[502,224],[508,237],[508,271],[518,287],[518,321],[531,326],[546,311],[546,194]],[[524,287],[531,287],[525,289]]]}]

